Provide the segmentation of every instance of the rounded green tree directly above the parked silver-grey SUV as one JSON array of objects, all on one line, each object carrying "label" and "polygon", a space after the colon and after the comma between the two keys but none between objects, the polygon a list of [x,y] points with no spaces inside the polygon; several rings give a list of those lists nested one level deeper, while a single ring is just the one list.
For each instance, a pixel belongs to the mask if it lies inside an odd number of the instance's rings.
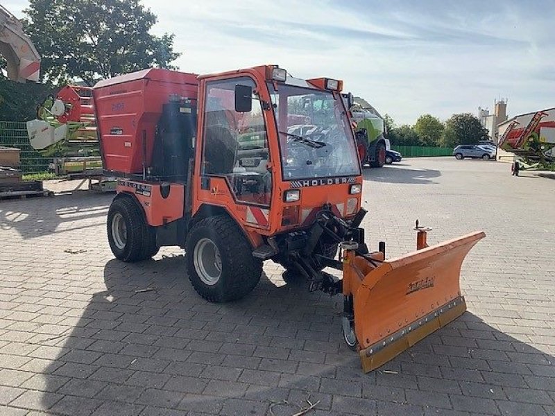
[{"label": "rounded green tree directly above the parked silver-grey SUV", "polygon": [[444,147],[455,147],[459,144],[473,144],[488,139],[488,130],[481,125],[479,119],[470,113],[453,114],[445,122],[445,130],[441,137]]}]

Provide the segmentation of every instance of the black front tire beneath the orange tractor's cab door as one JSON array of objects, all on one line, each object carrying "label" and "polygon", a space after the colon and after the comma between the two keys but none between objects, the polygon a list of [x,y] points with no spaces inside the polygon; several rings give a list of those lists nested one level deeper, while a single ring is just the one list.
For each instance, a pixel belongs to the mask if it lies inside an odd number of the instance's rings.
[{"label": "black front tire beneath the orange tractor's cab door", "polygon": [[[216,248],[220,264],[219,275],[207,283],[207,270],[200,266],[200,252]],[[212,216],[200,220],[191,228],[185,243],[187,274],[197,293],[210,302],[241,299],[252,291],[262,275],[262,260],[253,257],[253,249],[237,224],[228,216]],[[198,250],[197,252],[195,250]],[[198,255],[197,255],[198,254]],[[199,270],[197,270],[197,266]],[[206,266],[207,268],[207,266]],[[210,272],[208,273],[210,275]]]}]

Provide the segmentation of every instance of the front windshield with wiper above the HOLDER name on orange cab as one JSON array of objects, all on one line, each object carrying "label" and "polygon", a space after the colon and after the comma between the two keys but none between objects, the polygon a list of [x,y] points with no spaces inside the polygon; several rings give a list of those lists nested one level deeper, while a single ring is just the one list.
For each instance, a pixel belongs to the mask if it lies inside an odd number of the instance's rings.
[{"label": "front windshield with wiper above the HOLDER name on orange cab", "polygon": [[268,84],[278,123],[284,180],[359,175],[345,108],[331,92]]}]

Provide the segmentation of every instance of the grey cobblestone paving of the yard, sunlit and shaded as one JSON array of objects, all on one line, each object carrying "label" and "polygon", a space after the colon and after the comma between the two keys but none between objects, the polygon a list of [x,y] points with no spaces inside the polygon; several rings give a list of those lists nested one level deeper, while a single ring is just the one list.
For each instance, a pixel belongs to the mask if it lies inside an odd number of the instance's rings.
[{"label": "grey cobblestone paving of the yard, sunlit and shaded", "polygon": [[273,263],[252,295],[210,304],[177,249],[112,259],[110,195],[0,202],[0,415],[555,415],[555,181],[451,158],[365,177],[388,255],[413,249],[416,218],[432,243],[488,234],[463,264],[469,311],[370,374],[339,297]]}]

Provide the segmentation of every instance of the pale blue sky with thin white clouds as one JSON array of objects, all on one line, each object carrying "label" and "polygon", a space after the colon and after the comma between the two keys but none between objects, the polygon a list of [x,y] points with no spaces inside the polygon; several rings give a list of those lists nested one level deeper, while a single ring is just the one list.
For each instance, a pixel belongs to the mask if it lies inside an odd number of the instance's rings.
[{"label": "pale blue sky with thin white clouds", "polygon": [[[555,107],[555,0],[142,0],[175,33],[180,70],[279,64],[344,80],[395,123]],[[26,0],[2,0],[17,17]]]}]

